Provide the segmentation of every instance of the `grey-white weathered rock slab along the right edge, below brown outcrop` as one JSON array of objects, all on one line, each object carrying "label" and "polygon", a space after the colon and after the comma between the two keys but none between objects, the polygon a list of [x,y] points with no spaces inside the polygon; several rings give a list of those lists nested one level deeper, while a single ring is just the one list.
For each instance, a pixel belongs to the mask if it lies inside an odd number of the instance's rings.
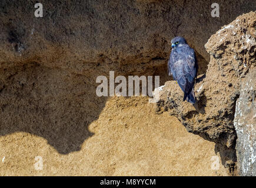
[{"label": "grey-white weathered rock slab along the right edge, below brown outcrop", "polygon": [[237,162],[241,176],[256,176],[256,68],[242,81],[235,108]]}]

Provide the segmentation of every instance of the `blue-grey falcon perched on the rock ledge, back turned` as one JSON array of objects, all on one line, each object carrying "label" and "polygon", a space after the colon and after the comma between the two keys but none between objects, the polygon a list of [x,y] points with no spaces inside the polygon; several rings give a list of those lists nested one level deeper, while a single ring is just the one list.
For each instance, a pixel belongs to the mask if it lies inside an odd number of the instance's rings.
[{"label": "blue-grey falcon perched on the rock ledge, back turned", "polygon": [[197,78],[197,58],[194,49],[190,48],[181,36],[171,40],[172,51],[168,61],[168,73],[177,80],[179,87],[184,92],[183,100],[194,104],[194,84]]}]

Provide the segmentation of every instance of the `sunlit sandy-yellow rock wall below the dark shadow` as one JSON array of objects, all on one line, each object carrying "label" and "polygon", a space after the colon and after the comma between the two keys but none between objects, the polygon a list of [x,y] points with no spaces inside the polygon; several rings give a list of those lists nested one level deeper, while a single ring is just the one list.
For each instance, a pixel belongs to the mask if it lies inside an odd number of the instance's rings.
[{"label": "sunlit sandy-yellow rock wall below the dark shadow", "polygon": [[[59,153],[46,136],[22,131],[1,136],[0,175],[230,175],[221,164],[220,153],[215,151],[213,142],[188,133],[178,119],[167,112],[155,114],[154,104],[148,103],[145,97],[109,99],[88,130],[92,136],[81,143],[81,149],[65,155]],[[78,137],[79,132],[74,137]],[[42,170],[35,170],[36,156],[42,156]],[[218,170],[215,166],[212,169],[214,162],[220,165]]]}]

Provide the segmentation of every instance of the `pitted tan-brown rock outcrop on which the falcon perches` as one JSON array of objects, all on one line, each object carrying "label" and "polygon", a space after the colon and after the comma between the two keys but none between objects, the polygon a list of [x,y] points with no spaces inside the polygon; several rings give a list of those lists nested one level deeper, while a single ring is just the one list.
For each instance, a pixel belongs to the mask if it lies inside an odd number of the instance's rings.
[{"label": "pitted tan-brown rock outcrop on which the falcon perches", "polygon": [[[177,83],[169,81],[160,89],[157,112],[169,110],[188,132],[234,149],[237,139],[234,127],[235,105],[240,96],[241,80],[256,63],[256,12],[238,16],[222,27],[205,44],[211,55],[207,73],[195,84],[197,103],[183,102]],[[227,154],[227,153],[226,153]],[[225,155],[227,165],[235,153]],[[231,165],[232,166],[232,165]]]}]

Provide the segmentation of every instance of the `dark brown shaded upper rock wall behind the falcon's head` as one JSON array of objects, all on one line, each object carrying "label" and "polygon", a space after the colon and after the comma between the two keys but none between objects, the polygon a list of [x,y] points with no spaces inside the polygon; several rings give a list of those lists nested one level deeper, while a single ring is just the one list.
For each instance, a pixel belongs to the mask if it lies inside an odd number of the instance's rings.
[{"label": "dark brown shaded upper rock wall behind the falcon's head", "polygon": [[36,62],[83,75],[93,69],[166,75],[171,38],[181,35],[197,51],[204,73],[204,43],[256,8],[255,1],[222,0],[220,18],[213,18],[212,1],[42,0],[44,14],[36,18],[36,2],[0,2],[0,68]]}]

